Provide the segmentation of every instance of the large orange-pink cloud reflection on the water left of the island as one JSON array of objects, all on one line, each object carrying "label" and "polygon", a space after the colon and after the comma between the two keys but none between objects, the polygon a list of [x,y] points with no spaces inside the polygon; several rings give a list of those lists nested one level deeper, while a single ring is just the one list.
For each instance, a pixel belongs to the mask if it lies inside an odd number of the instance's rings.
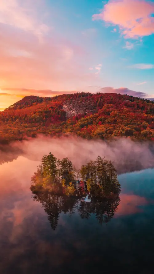
[{"label": "large orange-pink cloud reflection on the water left of the island", "polygon": [[[25,220],[33,220],[30,224],[33,230],[38,214],[45,215],[39,204],[31,199],[29,189],[30,178],[37,164],[18,157],[13,162],[0,165],[0,233],[6,236],[9,244],[22,239]],[[26,234],[29,232],[28,227]]]}]

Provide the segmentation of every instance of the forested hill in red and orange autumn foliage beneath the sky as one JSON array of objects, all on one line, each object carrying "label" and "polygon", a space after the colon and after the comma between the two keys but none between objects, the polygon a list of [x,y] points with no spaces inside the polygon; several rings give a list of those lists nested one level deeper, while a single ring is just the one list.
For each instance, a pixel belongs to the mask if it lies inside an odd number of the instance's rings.
[{"label": "forested hill in red and orange autumn foliage beneath the sky", "polygon": [[26,96],[0,112],[0,143],[37,134],[154,140],[154,102],[116,93],[82,92]]}]

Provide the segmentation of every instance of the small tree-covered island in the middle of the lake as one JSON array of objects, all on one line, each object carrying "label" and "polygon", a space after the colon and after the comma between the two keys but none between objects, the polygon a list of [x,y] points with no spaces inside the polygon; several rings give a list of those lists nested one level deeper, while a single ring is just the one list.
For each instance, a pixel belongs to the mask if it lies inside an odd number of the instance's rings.
[{"label": "small tree-covered island in the middle of the lake", "polygon": [[116,199],[120,193],[120,183],[113,163],[105,157],[97,157],[75,168],[68,158],[57,159],[51,152],[44,155],[40,165],[31,178],[31,191],[38,193],[48,191],[53,194]]}]

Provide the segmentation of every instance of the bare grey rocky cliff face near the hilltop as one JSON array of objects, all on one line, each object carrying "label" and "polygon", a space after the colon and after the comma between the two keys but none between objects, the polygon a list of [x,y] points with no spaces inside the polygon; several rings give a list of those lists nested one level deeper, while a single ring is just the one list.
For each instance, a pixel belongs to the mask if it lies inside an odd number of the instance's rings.
[{"label": "bare grey rocky cliff face near the hilltop", "polygon": [[78,114],[94,113],[96,106],[90,99],[85,100],[84,103],[80,99],[77,99],[63,103],[63,110],[66,111],[66,117],[70,118]]}]

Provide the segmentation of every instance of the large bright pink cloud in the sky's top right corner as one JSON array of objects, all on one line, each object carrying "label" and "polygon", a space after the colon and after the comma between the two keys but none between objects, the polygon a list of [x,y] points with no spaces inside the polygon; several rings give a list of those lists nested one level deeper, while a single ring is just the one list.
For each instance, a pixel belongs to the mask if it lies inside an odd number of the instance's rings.
[{"label": "large bright pink cloud in the sky's top right corner", "polygon": [[125,38],[154,33],[154,3],[145,0],[110,0],[93,20],[118,25]]}]

